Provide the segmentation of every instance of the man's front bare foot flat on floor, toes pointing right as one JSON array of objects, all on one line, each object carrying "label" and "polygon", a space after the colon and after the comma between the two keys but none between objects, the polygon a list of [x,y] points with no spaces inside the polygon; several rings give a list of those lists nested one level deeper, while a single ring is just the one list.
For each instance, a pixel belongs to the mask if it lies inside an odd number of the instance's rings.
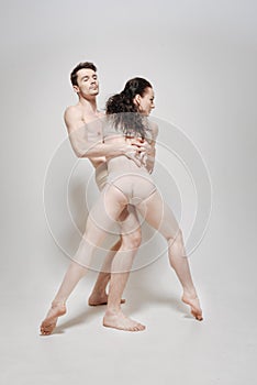
[{"label": "man's front bare foot flat on floor, toes pointing right", "polygon": [[110,312],[107,311],[103,317],[103,326],[107,328],[114,328],[126,331],[142,331],[145,330],[145,326],[134,321],[133,319],[123,315],[122,311]]}]

